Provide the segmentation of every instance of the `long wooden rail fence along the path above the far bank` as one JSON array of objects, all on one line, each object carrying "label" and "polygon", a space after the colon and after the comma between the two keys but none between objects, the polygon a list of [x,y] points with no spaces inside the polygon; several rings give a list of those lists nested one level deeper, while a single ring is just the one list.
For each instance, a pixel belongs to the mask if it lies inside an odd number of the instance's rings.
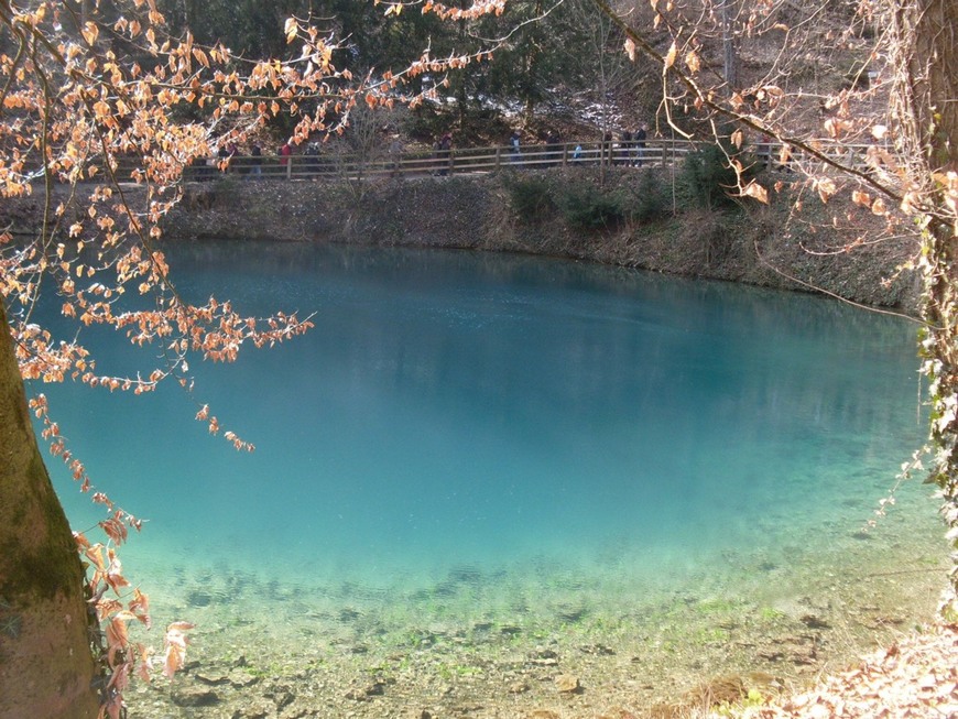
[{"label": "long wooden rail fence along the path above the far bank", "polygon": [[[375,176],[464,175],[492,173],[503,168],[545,170],[557,166],[597,166],[599,164],[623,167],[677,166],[690,153],[707,143],[685,140],[647,140],[644,145],[621,142],[558,143],[522,145],[519,152],[511,148],[455,148],[447,151],[423,152],[371,152],[368,154],[338,154],[305,152],[285,157],[262,155],[259,157],[235,155],[226,163],[222,159],[196,162],[187,168],[188,181],[213,179],[222,172],[249,178],[315,179],[339,177],[362,179]],[[870,145],[842,145],[820,143],[828,156],[859,171],[873,164],[867,159]],[[753,145],[745,150],[747,156],[756,163],[779,166],[781,145]],[[790,166],[818,163],[801,153],[792,154]],[[134,162],[121,161],[119,175],[128,178]]]}]

